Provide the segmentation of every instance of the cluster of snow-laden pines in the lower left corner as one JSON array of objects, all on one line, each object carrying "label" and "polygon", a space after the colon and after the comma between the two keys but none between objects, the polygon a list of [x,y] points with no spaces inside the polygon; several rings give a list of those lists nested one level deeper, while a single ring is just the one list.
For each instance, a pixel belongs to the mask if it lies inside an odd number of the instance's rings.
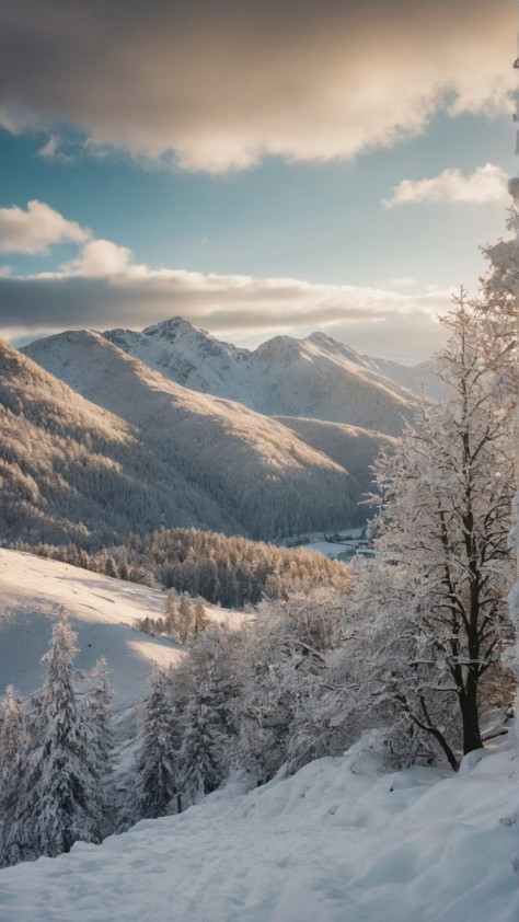
[{"label": "cluster of snow-laden pines in the lower left corner", "polygon": [[101,659],[88,691],[78,691],[74,642],[61,613],[28,713],[8,688],[0,729],[1,865],[58,855],[79,839],[101,842],[112,831],[112,689]]}]

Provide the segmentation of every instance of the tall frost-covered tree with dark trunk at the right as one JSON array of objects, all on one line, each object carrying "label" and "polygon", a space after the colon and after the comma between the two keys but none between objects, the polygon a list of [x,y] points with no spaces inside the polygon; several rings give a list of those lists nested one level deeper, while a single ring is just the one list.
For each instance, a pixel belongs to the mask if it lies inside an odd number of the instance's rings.
[{"label": "tall frost-covered tree with dark trunk at the right", "polygon": [[496,384],[499,326],[463,292],[445,323],[451,338],[437,373],[447,397],[423,402],[417,427],[376,464],[376,544],[379,567],[389,565],[370,597],[388,627],[400,621],[382,694],[391,679],[401,713],[435,737],[455,768],[460,751],[483,745],[482,680],[510,634],[514,445],[511,402]]}]

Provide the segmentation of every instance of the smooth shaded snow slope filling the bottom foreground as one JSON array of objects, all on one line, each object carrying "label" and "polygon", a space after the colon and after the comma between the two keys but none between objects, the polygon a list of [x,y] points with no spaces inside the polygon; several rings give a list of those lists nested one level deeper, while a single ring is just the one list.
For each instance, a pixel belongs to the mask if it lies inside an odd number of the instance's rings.
[{"label": "smooth shaded snow slope filling the bottom foreground", "polygon": [[362,745],[0,871],[0,922],[516,922],[518,759],[384,773]]}]

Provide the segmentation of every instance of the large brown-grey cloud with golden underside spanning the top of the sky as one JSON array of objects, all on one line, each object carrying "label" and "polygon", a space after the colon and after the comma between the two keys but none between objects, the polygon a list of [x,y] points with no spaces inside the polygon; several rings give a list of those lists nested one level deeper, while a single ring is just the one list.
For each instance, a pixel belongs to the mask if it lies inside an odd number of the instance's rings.
[{"label": "large brown-grey cloud with golden underside spanning the top of the sky", "polygon": [[4,0],[0,123],[48,158],[62,125],[187,170],[351,158],[510,111],[509,57],[508,0]]}]

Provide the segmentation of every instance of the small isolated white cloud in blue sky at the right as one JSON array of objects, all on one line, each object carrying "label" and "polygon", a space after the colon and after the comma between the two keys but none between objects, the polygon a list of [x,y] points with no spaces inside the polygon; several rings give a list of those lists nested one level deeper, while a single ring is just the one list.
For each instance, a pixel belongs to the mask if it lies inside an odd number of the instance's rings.
[{"label": "small isolated white cloud in blue sky at the right", "polygon": [[461,170],[443,170],[430,180],[403,180],[390,198],[384,198],[385,208],[395,205],[414,205],[429,201],[460,203],[463,205],[503,205],[508,199],[508,175],[493,163],[477,166],[469,176]]}]

